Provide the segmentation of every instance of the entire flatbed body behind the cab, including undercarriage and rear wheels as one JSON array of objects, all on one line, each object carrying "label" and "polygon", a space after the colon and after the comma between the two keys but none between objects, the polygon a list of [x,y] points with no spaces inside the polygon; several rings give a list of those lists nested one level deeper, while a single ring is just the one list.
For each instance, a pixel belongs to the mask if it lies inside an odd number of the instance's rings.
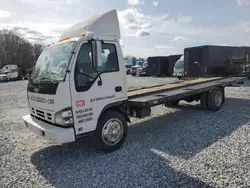
[{"label": "entire flatbed body behind the cab, including undercarriage and rear wheels", "polygon": [[245,80],[246,77],[199,78],[131,90],[128,91],[130,114],[144,118],[151,115],[153,106],[174,106],[181,100],[200,101],[204,109],[218,111],[225,102],[225,87]]}]

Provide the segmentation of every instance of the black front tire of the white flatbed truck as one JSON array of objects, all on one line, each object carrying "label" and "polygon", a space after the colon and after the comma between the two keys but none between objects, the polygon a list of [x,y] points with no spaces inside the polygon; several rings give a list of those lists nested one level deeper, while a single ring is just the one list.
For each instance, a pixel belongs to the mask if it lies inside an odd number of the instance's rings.
[{"label": "black front tire of the white flatbed truck", "polygon": [[[112,122],[117,124],[112,124]],[[112,126],[117,126],[115,131],[121,131],[120,135],[119,133],[117,133],[118,135],[114,135],[118,136],[116,140],[114,138],[115,141],[112,140],[110,135],[105,136],[105,133],[110,133],[110,131],[112,131]],[[117,111],[108,110],[104,112],[104,114],[99,119],[94,135],[95,148],[106,153],[118,150],[123,145],[127,137],[127,133],[128,125],[124,115]]]}]

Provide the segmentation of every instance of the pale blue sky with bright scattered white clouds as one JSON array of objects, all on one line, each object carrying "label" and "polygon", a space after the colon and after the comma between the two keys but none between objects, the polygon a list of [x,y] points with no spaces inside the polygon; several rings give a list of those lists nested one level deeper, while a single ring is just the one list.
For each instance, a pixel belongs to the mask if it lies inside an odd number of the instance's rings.
[{"label": "pale blue sky with bright scattered white clouds", "polygon": [[124,55],[183,54],[198,45],[250,46],[250,0],[0,0],[0,29],[51,44],[68,27],[118,11]]}]

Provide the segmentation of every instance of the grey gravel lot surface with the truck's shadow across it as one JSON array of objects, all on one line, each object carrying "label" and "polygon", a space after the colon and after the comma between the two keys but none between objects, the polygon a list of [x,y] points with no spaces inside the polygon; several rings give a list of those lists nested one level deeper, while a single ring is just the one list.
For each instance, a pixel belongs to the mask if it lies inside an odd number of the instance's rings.
[{"label": "grey gravel lot surface with the truck's shadow across it", "polygon": [[[165,78],[132,78],[129,85]],[[155,79],[154,79],[155,80]],[[221,111],[197,103],[133,119],[111,154],[87,140],[57,145],[29,132],[27,82],[0,83],[0,187],[244,187],[250,185],[250,82],[226,90]]]}]

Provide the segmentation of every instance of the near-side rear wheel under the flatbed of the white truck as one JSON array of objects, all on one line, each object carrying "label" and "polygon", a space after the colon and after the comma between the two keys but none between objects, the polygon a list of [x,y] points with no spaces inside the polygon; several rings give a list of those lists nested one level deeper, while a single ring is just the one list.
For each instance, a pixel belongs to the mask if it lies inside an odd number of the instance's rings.
[{"label": "near-side rear wheel under the flatbed of the white truck", "polygon": [[224,101],[223,89],[217,88],[208,92],[207,106],[210,111],[219,111]]}]

